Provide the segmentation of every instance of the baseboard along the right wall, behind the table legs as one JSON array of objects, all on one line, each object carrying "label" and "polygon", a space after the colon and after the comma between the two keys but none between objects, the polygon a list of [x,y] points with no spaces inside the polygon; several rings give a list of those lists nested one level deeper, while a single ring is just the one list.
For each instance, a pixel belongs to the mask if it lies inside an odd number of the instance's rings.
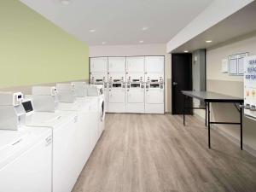
[{"label": "baseboard along the right wall, behind the table legs", "polygon": [[[195,114],[195,118],[201,120],[202,122],[205,122],[205,119],[202,118],[200,115]],[[207,127],[206,127],[207,129]],[[218,127],[218,125],[212,125],[212,129],[217,131],[220,135],[226,137],[229,139],[232,143],[235,143],[238,147],[240,147],[240,139],[237,139],[236,137],[231,136],[229,133],[223,131],[221,128]],[[254,157],[256,157],[256,149],[250,147],[246,143],[243,143],[243,149],[247,151],[249,154],[252,154]]]}]

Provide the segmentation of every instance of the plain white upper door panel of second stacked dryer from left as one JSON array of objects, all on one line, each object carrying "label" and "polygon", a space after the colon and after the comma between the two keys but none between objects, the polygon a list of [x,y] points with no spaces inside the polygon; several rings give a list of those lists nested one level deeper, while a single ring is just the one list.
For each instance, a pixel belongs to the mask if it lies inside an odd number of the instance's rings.
[{"label": "plain white upper door panel of second stacked dryer from left", "polygon": [[108,73],[125,73],[125,57],[108,57]]}]

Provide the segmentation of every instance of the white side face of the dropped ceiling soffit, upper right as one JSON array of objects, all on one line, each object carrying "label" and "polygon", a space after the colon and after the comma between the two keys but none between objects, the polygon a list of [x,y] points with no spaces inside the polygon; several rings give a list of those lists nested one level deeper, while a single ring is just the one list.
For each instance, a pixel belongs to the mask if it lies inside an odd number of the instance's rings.
[{"label": "white side face of the dropped ceiling soffit, upper right", "polygon": [[252,3],[253,0],[214,0],[200,15],[185,26],[181,32],[171,39],[167,44],[167,52],[185,44],[190,39],[195,38],[201,32],[216,25],[221,20],[236,13],[239,9]]}]

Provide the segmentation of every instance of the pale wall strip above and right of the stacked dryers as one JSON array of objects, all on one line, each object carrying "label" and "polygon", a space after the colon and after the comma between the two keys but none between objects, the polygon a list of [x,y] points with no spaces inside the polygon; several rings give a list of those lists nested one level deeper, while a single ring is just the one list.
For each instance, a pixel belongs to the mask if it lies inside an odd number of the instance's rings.
[{"label": "pale wall strip above and right of the stacked dryers", "polygon": [[170,82],[171,55],[166,54],[166,44],[136,44],[136,45],[102,45],[90,46],[90,57],[94,56],[137,56],[137,55],[165,55],[165,85],[166,85],[166,112],[171,110]]}]

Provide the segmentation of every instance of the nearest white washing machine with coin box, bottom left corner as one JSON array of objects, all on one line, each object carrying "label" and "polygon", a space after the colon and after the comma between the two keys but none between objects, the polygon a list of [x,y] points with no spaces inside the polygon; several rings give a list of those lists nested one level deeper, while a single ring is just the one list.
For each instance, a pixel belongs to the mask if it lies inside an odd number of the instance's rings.
[{"label": "nearest white washing machine with coin box, bottom left corner", "polygon": [[50,192],[52,132],[24,125],[21,93],[0,93],[0,191]]}]

